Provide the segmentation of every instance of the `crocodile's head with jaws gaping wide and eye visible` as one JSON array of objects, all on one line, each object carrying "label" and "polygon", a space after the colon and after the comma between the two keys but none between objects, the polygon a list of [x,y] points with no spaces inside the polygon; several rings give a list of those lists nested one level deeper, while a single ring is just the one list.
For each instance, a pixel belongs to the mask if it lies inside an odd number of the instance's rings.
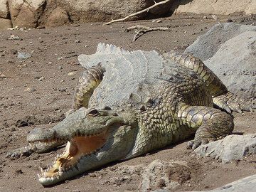
[{"label": "crocodile's head with jaws gaping wide and eye visible", "polygon": [[34,129],[28,142],[67,142],[53,166],[41,169],[39,182],[44,186],[82,174],[111,161],[127,158],[137,133],[134,114],[110,109],[85,109],[73,112],[55,127]]}]

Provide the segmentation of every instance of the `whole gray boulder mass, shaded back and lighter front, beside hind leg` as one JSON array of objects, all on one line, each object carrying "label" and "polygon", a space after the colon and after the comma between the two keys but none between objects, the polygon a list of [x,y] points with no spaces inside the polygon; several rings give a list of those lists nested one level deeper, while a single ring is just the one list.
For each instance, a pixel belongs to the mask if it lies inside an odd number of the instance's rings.
[{"label": "whole gray boulder mass, shaded back and lighter front, beside hind leg", "polygon": [[185,52],[204,60],[228,90],[256,107],[256,26],[218,24]]}]

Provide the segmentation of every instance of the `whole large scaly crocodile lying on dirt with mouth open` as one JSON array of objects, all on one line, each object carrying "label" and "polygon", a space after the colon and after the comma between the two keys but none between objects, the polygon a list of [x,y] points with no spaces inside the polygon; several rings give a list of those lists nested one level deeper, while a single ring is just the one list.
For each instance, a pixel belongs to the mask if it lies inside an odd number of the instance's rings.
[{"label": "whole large scaly crocodile lying on dirt with mouth open", "polygon": [[100,43],[94,55],[79,60],[87,70],[79,78],[73,112],[51,129],[34,129],[30,145],[9,154],[67,143],[53,166],[38,174],[44,186],[193,134],[188,147],[196,149],[233,131],[232,111],[252,110],[192,55],[129,52]]}]

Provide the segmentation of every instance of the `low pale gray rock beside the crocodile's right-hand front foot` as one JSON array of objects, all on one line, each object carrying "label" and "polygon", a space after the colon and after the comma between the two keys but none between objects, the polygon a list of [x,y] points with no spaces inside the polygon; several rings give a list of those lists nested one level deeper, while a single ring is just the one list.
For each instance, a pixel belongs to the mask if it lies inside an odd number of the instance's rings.
[{"label": "low pale gray rock beside the crocodile's right-hand front foot", "polygon": [[223,163],[240,160],[256,154],[256,134],[229,135],[224,139],[199,146],[194,150],[199,156],[210,156]]}]

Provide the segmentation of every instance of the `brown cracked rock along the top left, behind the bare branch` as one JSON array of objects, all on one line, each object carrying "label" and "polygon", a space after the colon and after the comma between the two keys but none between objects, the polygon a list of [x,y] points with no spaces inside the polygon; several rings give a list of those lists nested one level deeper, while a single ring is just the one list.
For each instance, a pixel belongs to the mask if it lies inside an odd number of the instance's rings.
[{"label": "brown cracked rock along the top left, behind the bare branch", "polygon": [[[18,27],[63,26],[70,23],[110,21],[111,18],[127,16],[152,4],[154,0],[0,0],[0,18],[11,17],[12,26]],[[152,9],[150,14],[166,14],[171,2],[166,5]],[[133,19],[146,15],[141,14]]]}]

